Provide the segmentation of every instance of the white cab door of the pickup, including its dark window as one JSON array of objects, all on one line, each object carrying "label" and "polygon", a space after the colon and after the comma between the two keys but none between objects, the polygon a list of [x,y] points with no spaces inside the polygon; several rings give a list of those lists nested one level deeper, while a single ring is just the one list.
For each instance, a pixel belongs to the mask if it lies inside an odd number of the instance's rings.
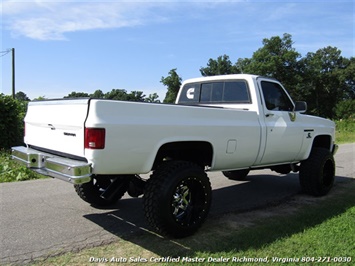
[{"label": "white cab door of the pickup, including its dark window", "polygon": [[260,165],[292,162],[302,146],[302,127],[294,104],[278,82],[258,80],[263,98],[266,142]]}]

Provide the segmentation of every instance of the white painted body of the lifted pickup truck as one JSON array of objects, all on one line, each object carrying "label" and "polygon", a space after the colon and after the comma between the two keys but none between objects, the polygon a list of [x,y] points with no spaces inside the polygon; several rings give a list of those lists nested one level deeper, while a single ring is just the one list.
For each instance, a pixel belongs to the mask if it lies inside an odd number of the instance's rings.
[{"label": "white painted body of the lifted pickup truck", "polygon": [[[250,103],[186,106],[100,99],[30,102],[25,117],[25,143],[85,158],[91,163],[93,174],[148,173],[166,143],[210,143],[210,171],[299,162],[308,158],[318,135],[329,136],[333,144],[332,121],[266,109],[260,82],[270,79],[254,75],[215,76],[187,80],[182,87],[226,77],[246,81]],[[192,93],[189,90],[186,96],[191,97]],[[181,91],[178,99],[180,94]],[[289,113],[296,114],[294,121]],[[105,128],[104,149],[84,148],[85,127]]]}]

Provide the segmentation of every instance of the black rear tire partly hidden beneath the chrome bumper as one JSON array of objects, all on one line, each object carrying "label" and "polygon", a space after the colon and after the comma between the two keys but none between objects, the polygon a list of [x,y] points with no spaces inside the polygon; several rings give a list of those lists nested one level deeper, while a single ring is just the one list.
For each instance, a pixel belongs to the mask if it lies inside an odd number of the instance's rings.
[{"label": "black rear tire partly hidden beneath the chrome bumper", "polygon": [[90,182],[84,184],[76,184],[74,185],[74,188],[82,200],[90,203],[94,207],[104,207],[117,202],[123,197],[128,189],[129,180],[122,178],[122,185],[118,192],[110,200],[102,198],[101,194],[114,180],[115,178],[92,177]]}]

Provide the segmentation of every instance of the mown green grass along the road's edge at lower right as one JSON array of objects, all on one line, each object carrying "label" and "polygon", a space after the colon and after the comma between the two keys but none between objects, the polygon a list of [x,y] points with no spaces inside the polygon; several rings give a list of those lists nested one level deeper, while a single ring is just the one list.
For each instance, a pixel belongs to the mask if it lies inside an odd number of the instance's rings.
[{"label": "mown green grass along the road's edge at lower right", "polygon": [[[353,193],[348,191],[348,196]],[[214,257],[298,258],[317,262],[319,258],[348,258],[355,255],[355,200],[347,197],[326,201],[300,210],[297,215],[272,218],[229,236]],[[341,200],[341,204],[338,200]],[[198,252],[198,256],[210,256]],[[355,259],[355,257],[354,257]],[[289,265],[297,265],[289,264]]]}]

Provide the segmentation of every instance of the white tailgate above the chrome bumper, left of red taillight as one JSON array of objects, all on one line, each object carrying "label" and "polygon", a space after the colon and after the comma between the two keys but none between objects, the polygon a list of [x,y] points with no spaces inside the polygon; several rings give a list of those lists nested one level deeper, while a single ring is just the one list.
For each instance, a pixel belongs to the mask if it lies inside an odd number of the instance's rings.
[{"label": "white tailgate above the chrome bumper, left of red taillight", "polygon": [[30,102],[25,143],[58,153],[84,156],[84,124],[90,99]]}]

